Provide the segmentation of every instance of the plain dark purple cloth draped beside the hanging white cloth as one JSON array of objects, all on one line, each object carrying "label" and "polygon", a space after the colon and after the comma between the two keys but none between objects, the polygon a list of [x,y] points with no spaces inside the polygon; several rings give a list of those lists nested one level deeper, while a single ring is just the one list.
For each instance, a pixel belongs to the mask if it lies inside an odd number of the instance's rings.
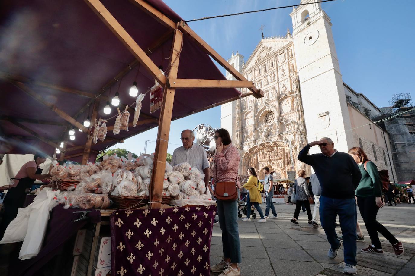
[{"label": "plain dark purple cloth draped beside the hanging white cloth", "polygon": [[72,222],[72,220],[80,216],[79,214],[73,214],[73,212],[79,211],[80,209],[63,209],[62,207],[63,205],[58,205],[51,211],[43,247],[39,254],[32,259],[24,261],[17,259],[12,261],[9,266],[9,275],[34,275],[56,255],[56,252],[59,251],[63,243],[75,235],[86,223],[98,223],[101,221],[101,213],[99,210],[87,209],[91,211],[87,214],[90,219]]}]

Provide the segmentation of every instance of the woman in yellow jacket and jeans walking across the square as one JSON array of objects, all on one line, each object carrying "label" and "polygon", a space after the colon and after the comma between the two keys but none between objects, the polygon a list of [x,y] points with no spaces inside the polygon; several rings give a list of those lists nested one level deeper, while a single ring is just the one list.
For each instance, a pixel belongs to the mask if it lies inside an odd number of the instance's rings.
[{"label": "woman in yellow jacket and jeans walking across the square", "polygon": [[256,210],[258,211],[261,219],[258,222],[266,222],[264,213],[262,213],[261,207],[259,204],[262,204],[261,193],[258,190],[258,178],[256,176],[254,168],[248,169],[249,179],[248,182],[242,187],[248,190],[247,193],[247,217],[243,218],[242,221],[251,221],[251,205],[254,204]]}]

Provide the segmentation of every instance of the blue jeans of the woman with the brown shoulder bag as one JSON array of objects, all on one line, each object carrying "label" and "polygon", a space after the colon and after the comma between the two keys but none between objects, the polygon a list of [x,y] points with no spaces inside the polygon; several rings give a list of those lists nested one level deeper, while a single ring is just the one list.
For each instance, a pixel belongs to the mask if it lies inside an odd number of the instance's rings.
[{"label": "blue jeans of the woman with the brown shoulder bag", "polygon": [[242,263],[241,245],[238,232],[238,198],[235,201],[217,200],[219,226],[222,230],[223,257],[230,258],[231,263]]}]

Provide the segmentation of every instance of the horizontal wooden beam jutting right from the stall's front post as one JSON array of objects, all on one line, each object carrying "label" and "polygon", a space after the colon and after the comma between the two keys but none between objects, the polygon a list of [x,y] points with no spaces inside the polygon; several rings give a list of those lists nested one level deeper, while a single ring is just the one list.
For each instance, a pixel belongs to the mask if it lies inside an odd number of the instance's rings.
[{"label": "horizontal wooden beam jutting right from the stall's front post", "polygon": [[249,81],[225,81],[222,79],[167,79],[171,88],[229,88],[229,87],[255,87]]}]

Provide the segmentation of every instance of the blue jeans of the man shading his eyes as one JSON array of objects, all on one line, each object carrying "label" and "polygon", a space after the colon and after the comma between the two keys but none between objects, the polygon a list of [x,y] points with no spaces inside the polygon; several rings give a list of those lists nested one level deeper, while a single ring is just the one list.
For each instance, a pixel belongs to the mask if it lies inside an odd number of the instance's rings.
[{"label": "blue jeans of the man shading his eyes", "polygon": [[320,197],[321,226],[333,249],[339,248],[336,234],[336,217],[339,215],[340,228],[343,234],[344,262],[356,265],[356,201],[354,198],[336,199]]}]

